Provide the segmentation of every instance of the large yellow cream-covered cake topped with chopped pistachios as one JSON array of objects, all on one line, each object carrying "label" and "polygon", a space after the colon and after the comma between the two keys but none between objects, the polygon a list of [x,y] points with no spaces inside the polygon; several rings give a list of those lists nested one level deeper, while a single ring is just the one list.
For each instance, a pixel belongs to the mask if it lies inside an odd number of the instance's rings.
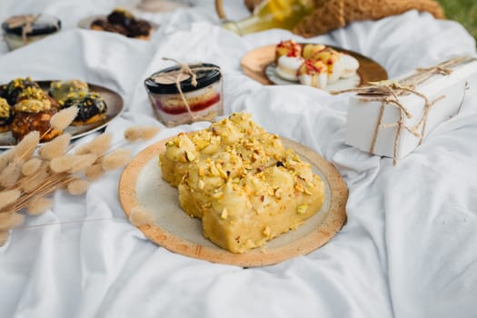
[{"label": "large yellow cream-covered cake topped with chopped pistachios", "polygon": [[250,114],[175,136],[159,162],[185,213],[201,218],[204,236],[232,253],[297,228],[324,202],[323,181],[311,164]]}]

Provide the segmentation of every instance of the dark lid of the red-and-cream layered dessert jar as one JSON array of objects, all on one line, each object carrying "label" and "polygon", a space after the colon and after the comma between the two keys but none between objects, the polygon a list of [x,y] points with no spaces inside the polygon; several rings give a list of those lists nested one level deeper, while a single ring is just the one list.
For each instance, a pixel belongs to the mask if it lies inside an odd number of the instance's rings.
[{"label": "dark lid of the red-and-cream layered dessert jar", "polygon": [[213,64],[203,63],[188,65],[196,75],[197,84],[192,84],[192,76],[180,73],[180,65],[164,68],[144,80],[147,90],[155,94],[179,94],[175,81],[179,76],[181,89],[184,93],[207,87],[221,78],[220,67]]}]

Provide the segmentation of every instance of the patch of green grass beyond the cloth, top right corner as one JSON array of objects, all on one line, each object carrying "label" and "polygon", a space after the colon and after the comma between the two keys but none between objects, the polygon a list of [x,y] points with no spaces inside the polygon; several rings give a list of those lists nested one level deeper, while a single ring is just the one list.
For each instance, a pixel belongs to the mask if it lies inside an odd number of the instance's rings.
[{"label": "patch of green grass beyond the cloth, top right corner", "polygon": [[476,0],[438,0],[445,16],[463,25],[477,39],[477,1]]}]

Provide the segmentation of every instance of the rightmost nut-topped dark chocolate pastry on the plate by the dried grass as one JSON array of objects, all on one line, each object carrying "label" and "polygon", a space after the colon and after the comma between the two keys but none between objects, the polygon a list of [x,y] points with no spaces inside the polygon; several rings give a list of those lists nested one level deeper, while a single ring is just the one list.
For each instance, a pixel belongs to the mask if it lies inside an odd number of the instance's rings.
[{"label": "rightmost nut-topped dark chocolate pastry on the plate by the dried grass", "polygon": [[104,98],[97,93],[78,93],[71,94],[65,100],[63,108],[76,106],[78,107],[78,114],[73,124],[92,124],[104,119],[107,110]]}]

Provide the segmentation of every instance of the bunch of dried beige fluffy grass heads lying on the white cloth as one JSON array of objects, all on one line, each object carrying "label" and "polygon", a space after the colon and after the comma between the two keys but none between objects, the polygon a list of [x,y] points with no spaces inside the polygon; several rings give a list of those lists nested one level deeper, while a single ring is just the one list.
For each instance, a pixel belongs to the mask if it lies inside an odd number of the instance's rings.
[{"label": "bunch of dried beige fluffy grass heads lying on the white cloth", "polygon": [[[44,134],[26,134],[13,149],[0,154],[0,246],[6,242],[9,230],[23,222],[24,214],[17,214],[19,211],[25,209],[30,215],[44,213],[54,204],[53,199],[45,196],[58,189],[73,195],[84,194],[89,181],[130,161],[131,151],[122,149],[123,145],[152,139],[159,131],[153,126],[131,127],[124,132],[124,139],[114,144],[111,134],[100,134],[90,143],[76,146],[75,154],[67,154],[74,148],[70,144],[71,134],[62,134],[39,147],[35,155],[40,140],[53,129],[65,129],[75,114],[73,109],[57,113]],[[136,210],[134,224],[153,221],[144,208]]]}]

